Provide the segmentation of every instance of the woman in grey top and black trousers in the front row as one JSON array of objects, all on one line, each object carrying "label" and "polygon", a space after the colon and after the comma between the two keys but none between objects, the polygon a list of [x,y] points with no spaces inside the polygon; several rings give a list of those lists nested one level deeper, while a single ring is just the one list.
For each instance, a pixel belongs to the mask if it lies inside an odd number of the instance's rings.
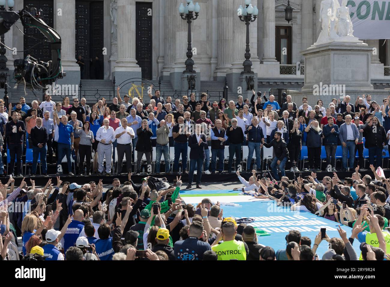
[{"label": "woman in grey top and black trousers in the front row", "polygon": [[91,175],[92,144],[95,143],[95,139],[89,124],[89,121],[85,121],[83,123],[83,128],[76,127],[76,134],[80,135],[80,143],[78,145],[78,170],[80,175],[83,175],[84,171],[84,157],[87,160],[87,171],[85,172],[85,175]]}]

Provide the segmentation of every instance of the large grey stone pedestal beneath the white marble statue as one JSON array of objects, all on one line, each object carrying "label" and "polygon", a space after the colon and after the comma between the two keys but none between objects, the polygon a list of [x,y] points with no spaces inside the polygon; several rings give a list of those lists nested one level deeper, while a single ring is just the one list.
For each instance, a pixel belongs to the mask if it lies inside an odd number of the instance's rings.
[{"label": "large grey stone pedestal beneath the white marble statue", "polygon": [[330,42],[301,51],[305,57],[305,85],[301,94],[328,103],[359,90],[373,90],[371,53],[365,43]]}]

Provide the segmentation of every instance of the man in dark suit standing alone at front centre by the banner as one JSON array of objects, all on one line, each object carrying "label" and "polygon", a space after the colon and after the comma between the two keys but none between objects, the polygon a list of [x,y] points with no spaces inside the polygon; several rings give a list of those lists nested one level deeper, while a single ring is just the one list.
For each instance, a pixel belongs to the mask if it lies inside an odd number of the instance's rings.
[{"label": "man in dark suit standing alone at front centre by the banner", "polygon": [[195,125],[195,134],[191,134],[188,137],[188,146],[190,150],[190,173],[188,174],[188,185],[186,189],[191,188],[195,164],[197,164],[197,177],[196,177],[196,188],[200,187],[200,178],[202,177],[202,166],[205,158],[204,149],[207,148],[206,135],[201,133],[202,126],[200,124]]}]

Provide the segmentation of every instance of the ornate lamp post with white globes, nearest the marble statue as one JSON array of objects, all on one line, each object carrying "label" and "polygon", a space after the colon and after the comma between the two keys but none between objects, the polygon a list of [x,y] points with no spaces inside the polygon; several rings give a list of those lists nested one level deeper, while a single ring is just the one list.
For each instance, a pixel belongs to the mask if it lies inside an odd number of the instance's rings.
[{"label": "ornate lamp post with white globes, nearest the marble statue", "polygon": [[254,73],[252,71],[252,61],[250,61],[250,47],[249,47],[249,25],[250,22],[253,22],[257,18],[257,14],[259,14],[259,9],[257,9],[256,5],[252,6],[251,0],[245,0],[245,8],[240,5],[237,10],[238,18],[241,21],[245,22],[246,25],[246,48],[245,48],[245,61],[243,63],[244,73]]}]

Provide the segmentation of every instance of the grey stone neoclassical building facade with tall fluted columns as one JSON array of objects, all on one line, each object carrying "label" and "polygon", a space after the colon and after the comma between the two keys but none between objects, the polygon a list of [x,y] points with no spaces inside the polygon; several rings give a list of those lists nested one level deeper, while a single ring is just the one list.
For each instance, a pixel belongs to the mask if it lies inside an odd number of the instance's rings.
[{"label": "grey stone neoclassical building facade with tall fluted columns", "polygon": [[[230,93],[236,93],[245,60],[245,23],[237,8],[244,0],[195,0],[201,9],[191,24],[197,90],[222,90],[225,78]],[[116,85],[128,78],[145,78],[166,89],[183,89],[181,75],[187,52],[187,23],[178,7],[185,0],[18,0],[14,11],[28,5],[43,9],[44,20],[62,37],[62,66],[67,76],[59,83],[79,84],[76,58],[86,63],[85,78],[93,78],[90,59],[99,56],[101,79]],[[252,0],[259,9],[250,24],[250,52],[259,90],[299,90],[304,81],[304,59],[300,51],[312,45],[320,31],[321,0],[292,0],[293,20],[287,23],[287,0]],[[17,24],[22,30],[20,23]],[[34,31],[25,30],[25,34]],[[35,31],[36,33],[36,31]],[[371,57],[374,89],[390,84],[390,40],[365,40],[378,51]],[[22,51],[34,45],[18,29],[5,34],[5,44]],[[48,58],[48,49],[31,51]],[[24,53],[7,51],[7,66]],[[200,85],[200,87],[199,87]],[[19,88],[18,88],[19,90]],[[13,96],[16,96],[14,92]]]}]

